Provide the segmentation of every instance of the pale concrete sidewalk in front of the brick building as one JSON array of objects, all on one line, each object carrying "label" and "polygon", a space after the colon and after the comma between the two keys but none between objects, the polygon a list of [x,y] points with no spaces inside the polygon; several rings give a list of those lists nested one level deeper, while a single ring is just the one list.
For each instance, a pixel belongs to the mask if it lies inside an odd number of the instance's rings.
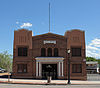
[{"label": "pale concrete sidewalk in front of the brick building", "polygon": [[[8,83],[7,78],[0,78],[0,83]],[[10,79],[13,84],[47,85],[47,80]],[[67,85],[67,80],[52,80],[50,85]],[[71,85],[100,85],[100,81],[71,80]]]}]

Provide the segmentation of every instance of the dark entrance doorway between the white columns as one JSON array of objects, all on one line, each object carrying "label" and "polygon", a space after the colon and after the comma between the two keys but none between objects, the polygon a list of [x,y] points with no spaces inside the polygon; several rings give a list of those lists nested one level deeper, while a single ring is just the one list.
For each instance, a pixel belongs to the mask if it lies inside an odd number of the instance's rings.
[{"label": "dark entrance doorway between the white columns", "polygon": [[42,64],[42,78],[47,79],[48,76],[57,79],[57,64]]}]

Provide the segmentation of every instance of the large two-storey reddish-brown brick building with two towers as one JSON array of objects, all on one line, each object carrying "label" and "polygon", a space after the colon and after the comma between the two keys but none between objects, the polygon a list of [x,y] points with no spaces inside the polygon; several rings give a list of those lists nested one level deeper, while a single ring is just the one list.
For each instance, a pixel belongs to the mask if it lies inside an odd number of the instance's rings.
[{"label": "large two-storey reddish-brown brick building with two towers", "polygon": [[65,35],[46,33],[32,35],[32,31],[14,31],[13,78],[67,79],[68,54],[71,79],[86,80],[85,33],[71,30]]}]

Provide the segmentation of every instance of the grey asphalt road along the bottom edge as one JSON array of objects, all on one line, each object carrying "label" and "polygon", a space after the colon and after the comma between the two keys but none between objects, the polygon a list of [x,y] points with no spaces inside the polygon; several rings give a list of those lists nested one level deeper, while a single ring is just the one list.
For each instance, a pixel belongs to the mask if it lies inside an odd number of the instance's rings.
[{"label": "grey asphalt road along the bottom edge", "polygon": [[100,85],[26,85],[0,83],[0,88],[100,88]]}]

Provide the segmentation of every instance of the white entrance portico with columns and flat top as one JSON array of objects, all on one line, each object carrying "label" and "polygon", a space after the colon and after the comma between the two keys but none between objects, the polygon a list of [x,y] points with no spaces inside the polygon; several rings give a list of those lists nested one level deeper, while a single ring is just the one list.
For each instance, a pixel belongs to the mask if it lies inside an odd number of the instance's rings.
[{"label": "white entrance portico with columns and flat top", "polygon": [[63,57],[36,57],[36,77],[42,77],[43,64],[57,64],[57,76],[63,77]]}]

